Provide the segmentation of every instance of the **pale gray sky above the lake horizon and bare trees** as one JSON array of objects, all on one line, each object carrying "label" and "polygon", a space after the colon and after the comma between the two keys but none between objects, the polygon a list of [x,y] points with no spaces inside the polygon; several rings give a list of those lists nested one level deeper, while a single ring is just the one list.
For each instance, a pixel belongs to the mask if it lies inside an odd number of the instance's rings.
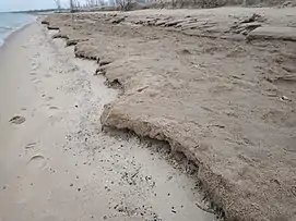
[{"label": "pale gray sky above the lake horizon and bare trees", "polygon": [[[66,5],[68,0],[60,0]],[[55,0],[0,0],[0,11],[56,8]]]}]

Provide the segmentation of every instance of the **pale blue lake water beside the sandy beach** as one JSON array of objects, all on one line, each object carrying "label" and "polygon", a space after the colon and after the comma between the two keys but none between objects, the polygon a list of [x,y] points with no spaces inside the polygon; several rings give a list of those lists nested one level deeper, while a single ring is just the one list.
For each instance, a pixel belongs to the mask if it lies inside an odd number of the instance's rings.
[{"label": "pale blue lake water beside the sandy beach", "polygon": [[22,13],[0,13],[0,46],[13,32],[35,21],[35,16]]}]

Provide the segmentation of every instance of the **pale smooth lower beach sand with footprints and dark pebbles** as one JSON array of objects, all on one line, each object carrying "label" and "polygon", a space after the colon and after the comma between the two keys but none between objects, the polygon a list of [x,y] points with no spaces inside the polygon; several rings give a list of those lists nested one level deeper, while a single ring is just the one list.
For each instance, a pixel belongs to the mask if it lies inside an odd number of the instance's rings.
[{"label": "pale smooth lower beach sand with footprints and dark pebbles", "polygon": [[102,132],[118,93],[95,69],[39,24],[0,49],[0,220],[214,221],[182,156]]}]

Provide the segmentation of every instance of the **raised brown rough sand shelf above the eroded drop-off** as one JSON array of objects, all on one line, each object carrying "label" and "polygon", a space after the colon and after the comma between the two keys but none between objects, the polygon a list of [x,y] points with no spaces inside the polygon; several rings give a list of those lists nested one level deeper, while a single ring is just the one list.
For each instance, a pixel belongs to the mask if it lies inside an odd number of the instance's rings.
[{"label": "raised brown rough sand shelf above the eroded drop-off", "polygon": [[[296,9],[145,10],[45,20],[103,62],[123,95],[105,126],[166,140],[199,167],[228,220],[296,220],[296,45],[249,39],[258,27],[296,28]],[[188,30],[189,29],[189,30]],[[294,33],[294,32],[292,32]],[[279,40],[282,39],[282,40]]]}]

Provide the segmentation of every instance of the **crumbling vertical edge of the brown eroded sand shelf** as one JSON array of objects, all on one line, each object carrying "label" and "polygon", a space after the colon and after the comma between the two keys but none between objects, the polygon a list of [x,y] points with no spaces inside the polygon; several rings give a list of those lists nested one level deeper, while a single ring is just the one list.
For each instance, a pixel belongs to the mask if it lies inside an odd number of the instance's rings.
[{"label": "crumbling vertical edge of the brown eroded sand shelf", "polygon": [[[49,26],[49,23],[43,23]],[[52,29],[52,28],[49,28]],[[56,29],[56,28],[55,28]],[[64,38],[63,35],[60,35],[61,38]],[[54,36],[54,38],[59,38],[59,35]],[[64,38],[67,41],[71,40],[70,38]],[[68,42],[67,42],[68,45]],[[83,54],[83,51],[80,51],[78,54],[76,47],[74,48],[74,54],[76,58],[97,60],[98,58]],[[104,74],[105,75],[105,74]],[[108,75],[105,75],[107,83],[113,83],[108,78]],[[123,88],[123,83],[120,79],[117,79],[118,83]],[[157,125],[157,122],[144,122],[141,119],[132,119],[129,115],[120,114],[114,110],[114,105],[125,97],[125,88],[122,97],[119,97],[114,102],[104,107],[103,114],[100,116],[100,122],[103,126],[117,130],[129,130],[134,132],[137,135],[142,137],[150,137],[152,139],[167,142],[173,151],[182,152],[189,161],[192,161],[198,168],[197,179],[200,182],[201,189],[204,192],[208,200],[214,205],[214,208],[220,214],[223,214],[225,220],[229,221],[250,221],[250,220],[267,220],[268,218],[261,213],[260,210],[256,210],[254,207],[251,207],[250,204],[245,204],[241,201],[244,197],[247,197],[246,193],[242,193],[237,186],[230,184],[228,181],[224,180],[221,174],[215,173],[211,169],[211,165],[208,165],[203,162],[202,159],[198,159],[197,156],[190,150],[192,145],[180,144],[174,135],[167,133],[162,125]],[[120,123],[118,123],[120,122]],[[174,130],[173,130],[174,131]]]}]

